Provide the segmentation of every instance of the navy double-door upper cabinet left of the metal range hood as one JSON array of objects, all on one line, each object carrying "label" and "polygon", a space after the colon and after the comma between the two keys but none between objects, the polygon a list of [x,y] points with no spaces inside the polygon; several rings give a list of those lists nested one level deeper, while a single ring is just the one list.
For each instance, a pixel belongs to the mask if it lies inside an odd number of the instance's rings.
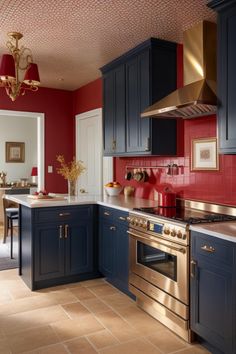
[{"label": "navy double-door upper cabinet left of the metal range hood", "polygon": [[101,71],[104,154],[176,155],[176,120],[140,117],[176,89],[176,44],[151,38]]}]

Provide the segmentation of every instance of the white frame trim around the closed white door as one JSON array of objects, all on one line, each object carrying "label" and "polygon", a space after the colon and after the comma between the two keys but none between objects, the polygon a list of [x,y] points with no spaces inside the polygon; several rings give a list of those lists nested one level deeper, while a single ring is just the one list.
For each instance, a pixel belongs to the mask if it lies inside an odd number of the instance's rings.
[{"label": "white frame trim around the closed white door", "polygon": [[102,157],[103,157],[103,134],[102,134],[102,108],[96,108],[91,111],[87,111],[84,113],[76,114],[75,116],[75,154],[76,154],[76,159],[78,159],[78,153],[79,153],[79,144],[78,144],[78,137],[77,137],[77,132],[79,129],[79,121],[82,119],[87,119],[87,118],[92,118],[96,116],[98,121],[99,121],[99,131],[98,135],[101,141],[101,146],[100,146],[100,153],[101,153],[101,169],[100,169],[100,174],[99,174],[99,179],[101,181],[99,185],[99,194],[102,194],[102,178],[103,178],[103,165],[102,165]]}]

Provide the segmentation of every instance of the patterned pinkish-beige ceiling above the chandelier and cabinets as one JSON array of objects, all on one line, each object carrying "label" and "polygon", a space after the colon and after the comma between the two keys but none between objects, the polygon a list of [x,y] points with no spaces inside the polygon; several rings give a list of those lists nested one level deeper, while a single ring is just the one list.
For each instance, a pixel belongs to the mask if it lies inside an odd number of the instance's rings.
[{"label": "patterned pinkish-beige ceiling above the chandelier and cabinets", "polygon": [[182,42],[202,19],[216,21],[206,0],[1,0],[0,54],[7,33],[21,32],[44,87],[75,90],[99,68],[150,37]]}]

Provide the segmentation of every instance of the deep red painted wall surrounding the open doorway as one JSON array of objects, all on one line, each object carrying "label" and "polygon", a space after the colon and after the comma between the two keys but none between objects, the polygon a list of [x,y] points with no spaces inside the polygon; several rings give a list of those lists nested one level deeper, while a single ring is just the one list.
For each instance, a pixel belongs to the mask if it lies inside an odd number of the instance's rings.
[{"label": "deep red painted wall surrounding the open doorway", "polygon": [[[56,172],[56,155],[64,154],[67,160],[73,157],[72,108],[73,95],[70,91],[41,87],[37,92],[27,92],[12,102],[5,89],[0,89],[0,109],[45,114],[45,188],[49,192],[66,192],[66,181]],[[54,167],[51,174],[47,173],[48,165]]]}]

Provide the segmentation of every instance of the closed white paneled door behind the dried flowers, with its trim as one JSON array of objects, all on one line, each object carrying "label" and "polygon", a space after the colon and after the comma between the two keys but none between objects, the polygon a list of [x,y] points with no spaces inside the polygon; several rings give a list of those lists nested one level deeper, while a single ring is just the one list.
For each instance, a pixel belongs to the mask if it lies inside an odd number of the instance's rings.
[{"label": "closed white paneled door behind the dried flowers, with its trim", "polygon": [[76,115],[76,159],[86,171],[78,179],[79,195],[102,194],[102,109]]}]

